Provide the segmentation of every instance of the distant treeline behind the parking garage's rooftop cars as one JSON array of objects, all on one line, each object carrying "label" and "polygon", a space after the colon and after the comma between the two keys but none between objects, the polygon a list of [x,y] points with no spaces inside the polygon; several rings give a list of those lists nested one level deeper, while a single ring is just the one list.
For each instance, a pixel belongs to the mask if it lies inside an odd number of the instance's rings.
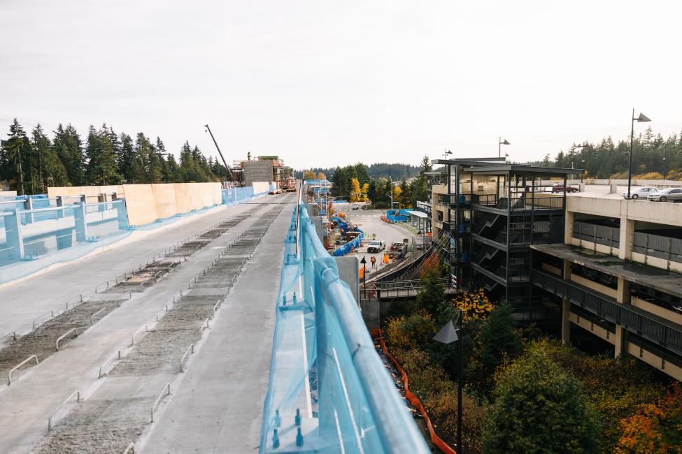
[{"label": "distant treeline behind the parking garage's rooftop cars", "polygon": [[[585,168],[588,177],[627,178],[630,160],[630,137],[613,142],[611,136],[599,143],[574,143],[568,152],[550,154],[531,164],[544,167]],[[665,157],[665,160],[664,160]],[[584,160],[584,161],[583,161]],[[665,173],[665,175],[664,175]],[[682,133],[668,138],[654,134],[651,127],[635,136],[632,146],[632,177],[637,180],[682,180]]]}]

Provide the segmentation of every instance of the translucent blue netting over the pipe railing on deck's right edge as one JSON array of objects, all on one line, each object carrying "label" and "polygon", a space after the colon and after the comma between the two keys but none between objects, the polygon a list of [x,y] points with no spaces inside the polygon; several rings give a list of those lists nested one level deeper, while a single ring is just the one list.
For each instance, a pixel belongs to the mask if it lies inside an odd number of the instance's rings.
[{"label": "translucent blue netting over the pipe railing on deck's right edge", "polygon": [[260,452],[430,453],[336,259],[299,210],[285,242]]}]

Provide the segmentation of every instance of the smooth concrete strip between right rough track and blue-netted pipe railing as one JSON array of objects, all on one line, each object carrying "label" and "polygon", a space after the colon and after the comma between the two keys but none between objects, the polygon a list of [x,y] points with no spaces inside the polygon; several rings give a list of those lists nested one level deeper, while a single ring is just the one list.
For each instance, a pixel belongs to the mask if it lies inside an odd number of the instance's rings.
[{"label": "smooth concrete strip between right rough track and blue-netted pipe railing", "polygon": [[257,452],[291,215],[283,210],[264,236],[142,441],[144,453]]}]

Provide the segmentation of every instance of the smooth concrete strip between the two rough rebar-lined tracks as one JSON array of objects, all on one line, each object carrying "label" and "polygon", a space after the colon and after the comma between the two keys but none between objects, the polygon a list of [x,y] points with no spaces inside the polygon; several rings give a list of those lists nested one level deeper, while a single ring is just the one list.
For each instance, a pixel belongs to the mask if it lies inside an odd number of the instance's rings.
[{"label": "smooth concrete strip between the two rough rebar-lined tracks", "polygon": [[[266,207],[263,205],[264,210],[250,217],[243,225],[235,226],[226,235],[199,250],[166,279],[124,302],[84,335],[71,341],[65,349],[29,369],[20,381],[4,387],[0,391],[0,407],[8,411],[0,414],[0,427],[3,427],[0,432],[0,451],[29,451],[44,434],[47,417],[68,395],[74,390],[80,390],[86,399],[92,395],[101,383],[108,380],[97,380],[99,366],[112,353],[119,349],[125,351],[132,333],[141,324],[151,323],[178,288],[187,288],[188,281],[201,274],[229,242],[248,226],[257,224],[257,218],[267,211]],[[250,208],[253,205],[246,207],[246,210]],[[152,386],[152,381],[149,385]],[[154,391],[158,393],[159,390]]]}]

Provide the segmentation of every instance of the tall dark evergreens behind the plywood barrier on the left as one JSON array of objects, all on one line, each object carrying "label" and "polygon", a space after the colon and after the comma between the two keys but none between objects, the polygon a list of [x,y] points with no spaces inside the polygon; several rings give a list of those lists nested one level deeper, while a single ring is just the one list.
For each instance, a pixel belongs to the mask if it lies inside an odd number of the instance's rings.
[{"label": "tall dark evergreens behind the plywood barrier on the left", "polygon": [[29,136],[14,119],[7,136],[0,140],[0,181],[19,194],[44,193],[46,186],[220,182],[228,175],[225,166],[189,142],[180,148],[178,162],[161,138],[116,133],[106,124],[90,125],[83,137],[71,124],[60,123],[50,138],[41,124]]}]

